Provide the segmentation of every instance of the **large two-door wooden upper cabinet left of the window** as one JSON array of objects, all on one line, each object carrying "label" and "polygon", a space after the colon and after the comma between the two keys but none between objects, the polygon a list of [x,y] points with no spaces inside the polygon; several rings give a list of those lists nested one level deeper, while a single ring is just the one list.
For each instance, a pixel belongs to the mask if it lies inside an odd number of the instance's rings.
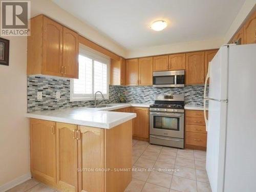
[{"label": "large two-door wooden upper cabinet left of the window", "polygon": [[78,34],[54,20],[31,19],[27,74],[78,78]]}]

